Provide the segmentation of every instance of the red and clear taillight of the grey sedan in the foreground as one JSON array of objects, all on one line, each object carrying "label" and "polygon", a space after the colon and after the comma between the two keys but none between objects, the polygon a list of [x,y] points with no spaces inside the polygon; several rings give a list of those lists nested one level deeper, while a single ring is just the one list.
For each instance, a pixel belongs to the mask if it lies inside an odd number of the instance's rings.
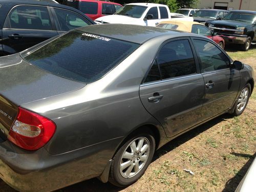
[{"label": "red and clear taillight of the grey sedan in the foreground", "polygon": [[56,125],[50,119],[19,107],[8,139],[25,150],[34,151],[44,146],[55,130]]}]

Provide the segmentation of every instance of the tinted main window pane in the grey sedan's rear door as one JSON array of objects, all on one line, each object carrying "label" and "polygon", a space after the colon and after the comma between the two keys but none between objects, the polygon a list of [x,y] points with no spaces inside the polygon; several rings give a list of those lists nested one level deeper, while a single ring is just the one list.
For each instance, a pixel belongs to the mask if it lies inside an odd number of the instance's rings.
[{"label": "tinted main window pane in the grey sedan's rear door", "polygon": [[168,42],[158,53],[162,79],[196,73],[194,56],[187,39]]}]

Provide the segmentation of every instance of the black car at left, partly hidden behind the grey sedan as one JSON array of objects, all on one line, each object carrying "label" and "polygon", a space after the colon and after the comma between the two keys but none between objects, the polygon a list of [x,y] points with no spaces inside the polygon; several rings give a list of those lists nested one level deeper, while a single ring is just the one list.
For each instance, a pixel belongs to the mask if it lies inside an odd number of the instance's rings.
[{"label": "black car at left, partly hidden behind the grey sedan", "polygon": [[56,3],[0,0],[0,56],[28,49],[71,29],[95,24],[82,12]]}]

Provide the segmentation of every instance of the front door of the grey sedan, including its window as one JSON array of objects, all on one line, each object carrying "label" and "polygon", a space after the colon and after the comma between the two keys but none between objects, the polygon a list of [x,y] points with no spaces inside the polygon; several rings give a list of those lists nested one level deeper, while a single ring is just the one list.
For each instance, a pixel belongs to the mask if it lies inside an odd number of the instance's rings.
[{"label": "front door of the grey sedan, including its window", "polygon": [[229,110],[240,87],[240,71],[230,68],[230,59],[210,40],[193,38],[204,78],[204,103],[201,120]]}]

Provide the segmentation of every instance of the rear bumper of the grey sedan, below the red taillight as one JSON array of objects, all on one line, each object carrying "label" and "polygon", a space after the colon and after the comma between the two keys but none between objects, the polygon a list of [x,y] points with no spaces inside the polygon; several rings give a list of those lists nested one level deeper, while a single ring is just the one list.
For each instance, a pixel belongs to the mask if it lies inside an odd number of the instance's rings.
[{"label": "rear bumper of the grey sedan, below the red taillight", "polygon": [[27,152],[0,143],[0,178],[19,191],[52,191],[99,176],[120,138],[74,152],[50,155],[45,148]]}]

